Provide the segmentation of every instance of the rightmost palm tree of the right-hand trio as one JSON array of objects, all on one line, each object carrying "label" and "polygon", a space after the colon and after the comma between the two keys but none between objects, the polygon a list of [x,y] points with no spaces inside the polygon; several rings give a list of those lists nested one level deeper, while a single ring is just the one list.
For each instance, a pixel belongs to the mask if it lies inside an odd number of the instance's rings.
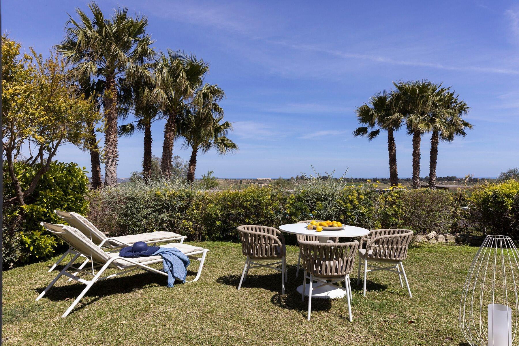
[{"label": "rightmost palm tree of the right-hand trio", "polygon": [[439,100],[439,109],[431,117],[431,153],[429,161],[429,187],[436,188],[436,162],[438,160],[439,139],[452,142],[456,136],[465,137],[466,129],[472,129],[472,124],[462,119],[470,107],[465,101],[459,100],[455,92],[446,91]]}]

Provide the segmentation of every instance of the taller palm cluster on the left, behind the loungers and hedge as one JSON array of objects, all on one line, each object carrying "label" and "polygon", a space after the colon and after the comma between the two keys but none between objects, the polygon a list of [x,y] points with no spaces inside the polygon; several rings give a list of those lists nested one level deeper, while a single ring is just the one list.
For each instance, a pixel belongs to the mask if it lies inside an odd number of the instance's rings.
[{"label": "taller palm cluster on the left, behind the loungers and hedge", "polygon": [[[71,64],[70,77],[77,81],[85,97],[94,97],[104,112],[103,131],[105,185],[117,184],[117,140],[121,135],[144,132],[144,179],[152,172],[152,123],[166,121],[162,145],[161,173],[171,177],[173,144],[184,139],[192,149],[189,182],[194,181],[196,154],[215,148],[219,154],[237,149],[226,135],[232,126],[223,121],[219,102],[224,91],[204,83],[209,64],[182,51],[156,51],[146,33],[146,17],[128,15],[128,8],[117,8],[105,18],[100,7],[88,5],[89,17],[76,9],[70,16],[63,41],[56,50]],[[118,126],[132,115],[134,121]],[[90,124],[94,131],[95,124]],[[92,188],[101,185],[100,149],[90,145]]]}]

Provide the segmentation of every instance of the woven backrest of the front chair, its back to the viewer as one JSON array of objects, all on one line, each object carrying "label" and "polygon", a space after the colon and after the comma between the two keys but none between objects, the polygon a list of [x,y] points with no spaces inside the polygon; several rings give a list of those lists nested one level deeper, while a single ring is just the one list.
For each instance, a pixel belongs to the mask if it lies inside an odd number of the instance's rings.
[{"label": "woven backrest of the front chair, its back to the viewer", "polygon": [[320,243],[300,241],[305,270],[315,276],[340,278],[351,273],[359,242]]}]

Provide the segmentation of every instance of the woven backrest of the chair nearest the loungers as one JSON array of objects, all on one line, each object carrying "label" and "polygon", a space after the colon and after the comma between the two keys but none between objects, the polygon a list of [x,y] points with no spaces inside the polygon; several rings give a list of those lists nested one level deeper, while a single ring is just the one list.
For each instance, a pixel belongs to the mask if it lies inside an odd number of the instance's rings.
[{"label": "woven backrest of the chair nearest the loungers", "polygon": [[[274,227],[242,225],[236,228],[240,234],[241,252],[250,258],[277,258],[285,251]],[[278,252],[276,253],[276,247]],[[284,255],[284,254],[283,254]]]}]

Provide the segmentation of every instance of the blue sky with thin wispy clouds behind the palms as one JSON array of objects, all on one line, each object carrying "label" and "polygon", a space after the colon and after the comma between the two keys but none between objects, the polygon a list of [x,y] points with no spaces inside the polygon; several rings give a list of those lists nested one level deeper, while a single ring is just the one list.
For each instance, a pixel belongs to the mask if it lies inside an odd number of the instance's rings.
[{"label": "blue sky with thin wispy clouds behind the palms", "polygon": [[[239,150],[199,155],[196,176],[291,177],[345,171],[388,177],[387,136],[353,137],[354,110],[392,81],[428,78],[452,86],[474,126],[440,143],[438,176],[495,177],[519,166],[519,3],[512,1],[326,2],[128,0],[99,2],[147,16],[154,47],[210,62],[206,82],[225,90],[229,137]],[[2,1],[2,32],[46,52],[64,35],[67,13],[87,2]],[[161,156],[163,122],[154,123]],[[102,134],[98,134],[102,136]],[[412,175],[411,136],[397,133],[400,177]],[[430,135],[422,137],[421,176],[429,174]],[[182,142],[174,155],[189,159]],[[141,169],[143,135],[119,139],[118,177]],[[68,145],[56,157],[90,169]]]}]

